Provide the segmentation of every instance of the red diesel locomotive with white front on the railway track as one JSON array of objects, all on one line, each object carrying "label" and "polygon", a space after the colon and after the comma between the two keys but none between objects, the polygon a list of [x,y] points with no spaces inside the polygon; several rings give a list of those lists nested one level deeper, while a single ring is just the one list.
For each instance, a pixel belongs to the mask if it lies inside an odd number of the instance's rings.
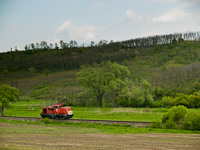
[{"label": "red diesel locomotive with white front on the railway track", "polygon": [[65,107],[64,103],[60,103],[43,107],[40,115],[42,118],[69,119],[73,117],[73,111],[71,110],[71,107]]}]

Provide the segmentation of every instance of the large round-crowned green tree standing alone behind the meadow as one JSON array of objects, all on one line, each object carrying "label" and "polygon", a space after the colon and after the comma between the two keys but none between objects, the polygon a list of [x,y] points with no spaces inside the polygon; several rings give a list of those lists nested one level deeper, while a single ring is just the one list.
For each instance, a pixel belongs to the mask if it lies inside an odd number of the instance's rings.
[{"label": "large round-crowned green tree standing alone behind the meadow", "polygon": [[104,94],[111,89],[122,89],[130,72],[127,67],[110,61],[82,67],[78,73],[80,84],[92,91],[97,104],[102,107]]}]

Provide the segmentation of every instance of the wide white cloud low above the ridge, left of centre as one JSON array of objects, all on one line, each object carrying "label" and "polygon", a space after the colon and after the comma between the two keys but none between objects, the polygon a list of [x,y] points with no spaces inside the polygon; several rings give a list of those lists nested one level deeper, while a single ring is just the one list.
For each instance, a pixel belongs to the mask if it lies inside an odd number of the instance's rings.
[{"label": "wide white cloud low above the ridge, left of centre", "polygon": [[81,42],[97,40],[97,38],[99,40],[99,37],[104,38],[105,30],[105,27],[99,26],[74,26],[69,20],[64,22],[62,26],[56,28],[58,34],[67,35],[68,38],[80,40]]}]

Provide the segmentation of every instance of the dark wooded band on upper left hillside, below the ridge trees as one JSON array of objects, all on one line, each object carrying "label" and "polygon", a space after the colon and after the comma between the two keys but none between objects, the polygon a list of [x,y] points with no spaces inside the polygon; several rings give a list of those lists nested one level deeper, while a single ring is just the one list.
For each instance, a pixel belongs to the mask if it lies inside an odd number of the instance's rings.
[{"label": "dark wooded band on upper left hillside, below the ridge trees", "polygon": [[27,50],[0,54],[0,72],[29,71],[36,72],[46,69],[51,72],[77,69],[81,65],[100,63],[105,60],[121,62],[130,60],[133,51],[126,51],[115,47],[67,48],[58,50]]}]

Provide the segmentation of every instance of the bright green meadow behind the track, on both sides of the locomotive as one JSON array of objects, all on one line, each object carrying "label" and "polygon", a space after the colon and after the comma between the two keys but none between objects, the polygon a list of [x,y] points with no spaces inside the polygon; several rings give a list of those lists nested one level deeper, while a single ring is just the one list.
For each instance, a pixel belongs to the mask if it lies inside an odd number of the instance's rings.
[{"label": "bright green meadow behind the track, on both sides of the locomotive", "polygon": [[[11,108],[5,110],[5,116],[40,117],[43,106],[50,105],[50,101],[29,100],[18,101]],[[160,121],[169,108],[99,108],[99,107],[74,107],[72,119],[98,119],[121,121]],[[200,113],[200,109],[190,109]]]}]

